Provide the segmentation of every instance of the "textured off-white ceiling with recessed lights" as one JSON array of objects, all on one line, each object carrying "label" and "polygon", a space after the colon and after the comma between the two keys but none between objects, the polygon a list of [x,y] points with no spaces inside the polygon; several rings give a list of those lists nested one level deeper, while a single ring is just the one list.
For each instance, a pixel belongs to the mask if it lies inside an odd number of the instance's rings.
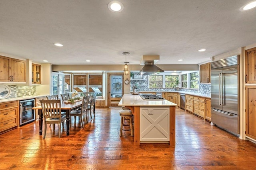
[{"label": "textured off-white ceiling with recessed lights", "polygon": [[123,52],[130,64],[142,55],[198,64],[256,43],[256,8],[239,11],[250,0],[120,0],[120,13],[108,2],[0,0],[0,52],[52,64],[124,64]]}]

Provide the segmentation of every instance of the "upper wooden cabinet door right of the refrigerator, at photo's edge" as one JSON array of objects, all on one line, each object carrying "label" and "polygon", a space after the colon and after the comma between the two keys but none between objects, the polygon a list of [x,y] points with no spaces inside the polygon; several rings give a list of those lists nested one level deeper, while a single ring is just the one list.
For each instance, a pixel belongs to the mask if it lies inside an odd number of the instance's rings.
[{"label": "upper wooden cabinet door right of the refrigerator, at photo's edge", "polygon": [[245,82],[256,83],[256,47],[245,51]]}]

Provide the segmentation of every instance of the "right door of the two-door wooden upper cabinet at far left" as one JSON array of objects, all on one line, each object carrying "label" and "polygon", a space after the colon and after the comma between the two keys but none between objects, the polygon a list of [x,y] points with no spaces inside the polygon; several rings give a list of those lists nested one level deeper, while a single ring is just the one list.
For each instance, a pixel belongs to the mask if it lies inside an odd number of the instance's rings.
[{"label": "right door of the two-door wooden upper cabinet at far left", "polygon": [[12,59],[11,70],[13,82],[26,82],[26,61]]}]

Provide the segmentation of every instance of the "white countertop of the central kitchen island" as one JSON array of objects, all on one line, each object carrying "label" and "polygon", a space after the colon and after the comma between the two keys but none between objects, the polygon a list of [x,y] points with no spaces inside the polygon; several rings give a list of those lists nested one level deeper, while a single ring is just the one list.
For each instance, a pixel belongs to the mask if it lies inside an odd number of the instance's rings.
[{"label": "white countertop of the central kitchen island", "polygon": [[177,106],[168,100],[143,100],[140,95],[124,94],[118,106]]}]

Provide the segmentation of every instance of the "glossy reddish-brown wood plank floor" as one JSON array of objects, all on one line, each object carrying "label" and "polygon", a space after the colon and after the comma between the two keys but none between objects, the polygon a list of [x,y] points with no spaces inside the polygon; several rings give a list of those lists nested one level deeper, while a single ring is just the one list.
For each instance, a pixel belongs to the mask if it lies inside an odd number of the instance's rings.
[{"label": "glossy reddish-brown wood plank floor", "polygon": [[130,131],[119,137],[120,108],[97,108],[82,128],[79,119],[58,138],[47,127],[39,136],[38,122],[0,135],[0,169],[63,170],[252,170],[256,144],[242,141],[209,122],[176,108],[176,147],[133,145]]}]

